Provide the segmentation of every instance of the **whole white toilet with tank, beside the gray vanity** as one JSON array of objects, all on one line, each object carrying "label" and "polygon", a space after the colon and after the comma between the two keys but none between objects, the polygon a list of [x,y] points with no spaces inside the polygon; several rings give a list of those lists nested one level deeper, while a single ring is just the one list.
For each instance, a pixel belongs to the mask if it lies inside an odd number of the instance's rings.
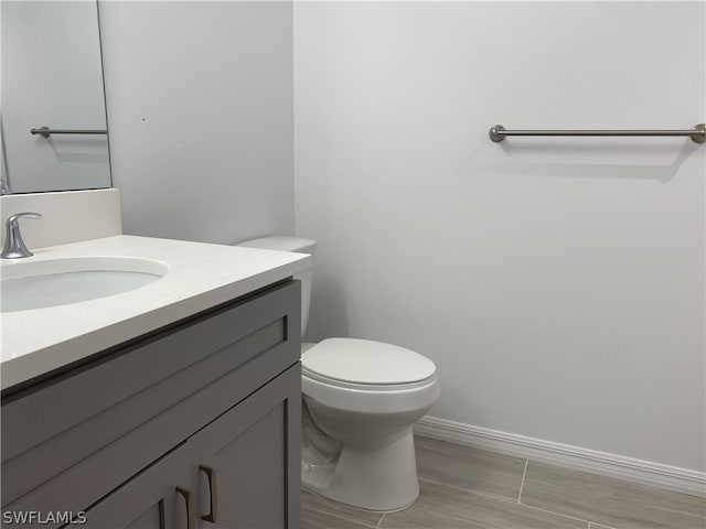
[{"label": "whole white toilet with tank, beside the gray vanity", "polygon": [[[313,255],[317,242],[265,237],[238,246]],[[301,280],[301,333],[311,270]],[[419,496],[411,424],[439,398],[436,366],[403,347],[354,338],[302,344],[304,489],[363,509],[404,509]]]}]

